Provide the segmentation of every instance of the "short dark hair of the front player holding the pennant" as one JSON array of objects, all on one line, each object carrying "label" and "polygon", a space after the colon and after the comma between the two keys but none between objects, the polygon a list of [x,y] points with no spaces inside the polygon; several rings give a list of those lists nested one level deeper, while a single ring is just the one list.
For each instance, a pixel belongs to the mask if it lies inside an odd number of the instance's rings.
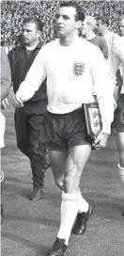
[{"label": "short dark hair of the front player holding the pennant", "polygon": [[76,9],[75,21],[76,22],[78,22],[78,21],[84,22],[84,20],[85,20],[85,11],[77,3],[74,3],[74,2],[63,2],[60,5],[60,8],[75,8]]}]

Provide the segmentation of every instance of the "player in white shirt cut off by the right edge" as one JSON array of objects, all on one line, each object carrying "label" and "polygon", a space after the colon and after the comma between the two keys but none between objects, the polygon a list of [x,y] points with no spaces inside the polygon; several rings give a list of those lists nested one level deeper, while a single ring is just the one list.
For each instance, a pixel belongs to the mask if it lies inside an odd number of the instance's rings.
[{"label": "player in white shirt cut off by the right edge", "polygon": [[[124,185],[124,16],[119,20],[121,37],[115,40],[108,59],[109,72],[113,81],[114,92],[116,90],[116,71],[121,64],[123,84],[117,99],[115,113],[116,122],[116,145],[119,152],[118,173]],[[117,90],[116,90],[117,93]],[[117,97],[116,97],[117,98]]]}]

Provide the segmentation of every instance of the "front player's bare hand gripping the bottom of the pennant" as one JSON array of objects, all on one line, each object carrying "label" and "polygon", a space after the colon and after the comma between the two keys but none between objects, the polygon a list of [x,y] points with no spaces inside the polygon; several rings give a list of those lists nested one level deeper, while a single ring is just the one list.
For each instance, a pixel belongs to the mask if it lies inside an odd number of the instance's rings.
[{"label": "front player's bare hand gripping the bottom of the pennant", "polygon": [[97,138],[95,139],[94,143],[92,144],[94,149],[95,150],[101,150],[102,148],[105,148],[106,144],[107,144],[108,137],[109,137],[108,134],[100,133],[97,136]]}]

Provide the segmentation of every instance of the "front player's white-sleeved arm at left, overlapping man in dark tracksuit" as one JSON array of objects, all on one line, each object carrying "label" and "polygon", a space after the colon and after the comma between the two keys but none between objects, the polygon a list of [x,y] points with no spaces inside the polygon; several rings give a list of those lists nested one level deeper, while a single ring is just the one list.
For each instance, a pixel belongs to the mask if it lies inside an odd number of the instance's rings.
[{"label": "front player's white-sleeved arm at left, overlapping man in dark tracksuit", "polygon": [[39,89],[42,82],[46,78],[46,70],[44,65],[44,52],[43,47],[36,56],[31,68],[27,72],[23,83],[20,85],[17,93],[15,94],[16,104],[23,106],[23,102],[26,102],[33,97],[35,92]]}]

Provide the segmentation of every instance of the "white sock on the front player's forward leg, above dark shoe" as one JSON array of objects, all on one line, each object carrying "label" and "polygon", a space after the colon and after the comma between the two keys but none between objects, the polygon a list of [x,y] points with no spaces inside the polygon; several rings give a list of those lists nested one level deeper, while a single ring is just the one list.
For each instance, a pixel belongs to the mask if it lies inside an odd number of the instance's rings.
[{"label": "white sock on the front player's forward leg, above dark shoe", "polygon": [[57,234],[58,238],[64,238],[65,244],[68,246],[70,239],[70,232],[74,223],[74,220],[79,211],[80,194],[68,194],[62,193],[61,202],[61,221],[60,228]]}]

